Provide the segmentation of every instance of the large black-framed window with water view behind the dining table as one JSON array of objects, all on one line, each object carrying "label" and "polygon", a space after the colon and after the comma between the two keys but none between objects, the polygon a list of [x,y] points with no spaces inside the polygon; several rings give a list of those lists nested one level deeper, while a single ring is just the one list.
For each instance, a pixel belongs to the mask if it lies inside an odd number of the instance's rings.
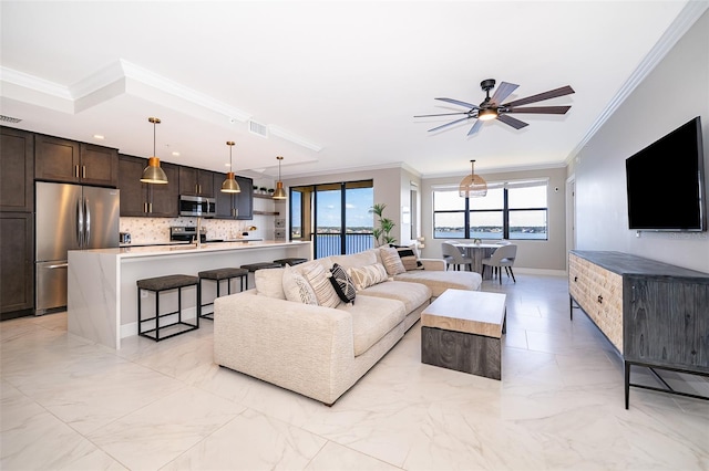
[{"label": "large black-framed window with water view behind the dining table", "polygon": [[548,234],[547,180],[489,182],[484,198],[433,188],[435,239],[536,239]]}]

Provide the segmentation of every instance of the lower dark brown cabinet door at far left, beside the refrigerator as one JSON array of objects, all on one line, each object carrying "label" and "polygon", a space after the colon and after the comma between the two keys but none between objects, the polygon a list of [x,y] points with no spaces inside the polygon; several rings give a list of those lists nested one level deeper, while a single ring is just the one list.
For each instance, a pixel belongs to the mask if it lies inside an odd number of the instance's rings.
[{"label": "lower dark brown cabinet door at far left, beside the refrigerator", "polygon": [[0,212],[0,318],[34,307],[34,218],[31,212]]}]

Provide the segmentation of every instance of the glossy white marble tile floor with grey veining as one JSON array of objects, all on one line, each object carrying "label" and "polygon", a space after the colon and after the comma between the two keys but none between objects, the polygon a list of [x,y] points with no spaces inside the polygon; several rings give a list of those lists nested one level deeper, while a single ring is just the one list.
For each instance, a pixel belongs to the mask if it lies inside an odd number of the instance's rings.
[{"label": "glossy white marble tile floor with grey veining", "polygon": [[415,324],[332,407],[214,365],[208,321],[119,352],[64,313],[2,322],[0,469],[709,470],[709,401],[636,388],[625,410],[621,363],[569,321],[565,278],[483,290],[507,294],[502,381],[422,365]]}]

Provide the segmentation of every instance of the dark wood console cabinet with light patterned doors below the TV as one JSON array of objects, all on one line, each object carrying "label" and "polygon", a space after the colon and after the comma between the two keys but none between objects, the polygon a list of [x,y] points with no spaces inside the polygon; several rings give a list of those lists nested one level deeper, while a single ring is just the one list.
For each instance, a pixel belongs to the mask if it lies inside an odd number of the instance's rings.
[{"label": "dark wood console cabinet with light patterned doors below the TV", "polygon": [[573,250],[568,276],[572,310],[576,302],[623,357],[626,409],[630,386],[707,399],[667,384],[633,384],[630,367],[709,376],[709,273],[620,252]]}]

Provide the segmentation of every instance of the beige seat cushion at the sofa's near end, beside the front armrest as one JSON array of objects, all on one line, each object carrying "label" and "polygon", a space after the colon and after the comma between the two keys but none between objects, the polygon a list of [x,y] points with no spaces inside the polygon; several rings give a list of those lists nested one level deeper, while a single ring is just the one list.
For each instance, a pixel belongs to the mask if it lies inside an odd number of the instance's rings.
[{"label": "beige seat cushion at the sofa's near end, beside the front armrest", "polygon": [[367,352],[407,315],[403,303],[374,296],[358,297],[357,304],[340,304],[338,310],[347,311],[352,316],[354,356]]}]

